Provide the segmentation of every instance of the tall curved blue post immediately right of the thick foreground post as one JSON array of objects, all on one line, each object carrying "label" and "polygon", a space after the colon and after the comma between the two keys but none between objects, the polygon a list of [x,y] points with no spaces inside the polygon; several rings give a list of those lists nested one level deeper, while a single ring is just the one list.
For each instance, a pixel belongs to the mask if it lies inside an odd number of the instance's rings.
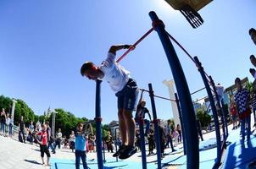
[{"label": "tall curved blue post immediately right of the thick foreground post", "polygon": [[194,60],[197,63],[198,71],[202,76],[203,84],[205,85],[205,89],[209,96],[210,106],[212,107],[212,112],[213,112],[213,116],[214,116],[216,142],[217,142],[217,159],[214,163],[214,168],[218,168],[220,166],[220,161],[221,161],[221,138],[220,138],[220,123],[219,123],[219,119],[218,119],[218,113],[217,113],[217,109],[215,106],[214,96],[211,92],[211,89],[210,89],[210,86],[208,83],[208,79],[206,78],[206,76],[203,72],[202,63],[199,62],[198,57],[194,57]]}]

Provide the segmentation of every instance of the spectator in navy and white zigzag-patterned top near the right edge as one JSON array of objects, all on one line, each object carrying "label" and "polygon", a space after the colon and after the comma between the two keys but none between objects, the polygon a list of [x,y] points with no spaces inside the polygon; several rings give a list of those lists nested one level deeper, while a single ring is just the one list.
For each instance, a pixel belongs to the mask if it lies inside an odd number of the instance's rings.
[{"label": "spectator in navy and white zigzag-patterned top near the right edge", "polygon": [[241,119],[242,141],[244,141],[246,125],[248,139],[250,139],[251,134],[250,96],[248,90],[242,88],[241,79],[237,78],[235,84],[237,85],[237,93],[234,96],[234,100],[236,101],[238,116]]}]

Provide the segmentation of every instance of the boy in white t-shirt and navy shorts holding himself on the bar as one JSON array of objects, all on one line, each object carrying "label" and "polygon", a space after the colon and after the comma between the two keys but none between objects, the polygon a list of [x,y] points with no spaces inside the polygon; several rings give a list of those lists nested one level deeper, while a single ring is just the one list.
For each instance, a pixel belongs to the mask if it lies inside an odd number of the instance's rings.
[{"label": "boy in white t-shirt and navy shorts holding himself on the bar", "polygon": [[111,46],[107,59],[99,67],[96,67],[91,62],[86,62],[81,67],[82,76],[92,80],[106,80],[117,96],[122,145],[113,156],[119,156],[120,159],[127,159],[137,151],[134,145],[135,121],[132,117],[132,112],[135,110],[139,89],[136,81],[131,79],[130,72],[121,67],[115,60],[117,51],[131,47],[133,46]]}]

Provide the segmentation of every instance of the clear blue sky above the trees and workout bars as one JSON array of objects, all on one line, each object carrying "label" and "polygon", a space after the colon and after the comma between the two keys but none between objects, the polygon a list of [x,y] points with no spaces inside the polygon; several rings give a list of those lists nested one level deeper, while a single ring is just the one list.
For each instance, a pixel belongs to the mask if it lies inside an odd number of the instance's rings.
[{"label": "clear blue sky above the trees and workout bars", "polygon": [[[24,100],[36,114],[51,106],[93,118],[95,83],[81,77],[81,64],[102,63],[109,46],[136,41],[150,29],[151,10],[201,59],[214,80],[227,87],[237,76],[250,77],[248,57],[256,54],[256,46],[248,29],[256,27],[255,6],[254,0],[214,0],[200,11],[205,23],[194,30],[164,0],[1,0],[0,95]],[[202,88],[197,68],[175,48],[190,90]],[[121,64],[141,88],[153,83],[157,95],[169,96],[162,81],[172,74],[155,32]],[[146,100],[150,107],[148,96]],[[169,101],[156,100],[156,106],[160,118],[172,117]],[[103,123],[117,119],[116,98],[107,83],[102,88],[102,114]]]}]

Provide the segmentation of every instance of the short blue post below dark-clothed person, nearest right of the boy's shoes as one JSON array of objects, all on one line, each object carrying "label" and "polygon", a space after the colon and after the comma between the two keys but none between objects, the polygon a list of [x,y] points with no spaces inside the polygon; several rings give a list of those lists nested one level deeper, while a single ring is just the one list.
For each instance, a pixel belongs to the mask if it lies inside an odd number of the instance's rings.
[{"label": "short blue post below dark-clothed person, nearest right of the boy's shoes", "polygon": [[139,128],[140,128],[140,136],[141,136],[141,151],[142,151],[142,169],[147,169],[147,156],[146,156],[146,147],[145,147],[145,135],[144,135],[144,119],[143,117],[139,117]]}]

